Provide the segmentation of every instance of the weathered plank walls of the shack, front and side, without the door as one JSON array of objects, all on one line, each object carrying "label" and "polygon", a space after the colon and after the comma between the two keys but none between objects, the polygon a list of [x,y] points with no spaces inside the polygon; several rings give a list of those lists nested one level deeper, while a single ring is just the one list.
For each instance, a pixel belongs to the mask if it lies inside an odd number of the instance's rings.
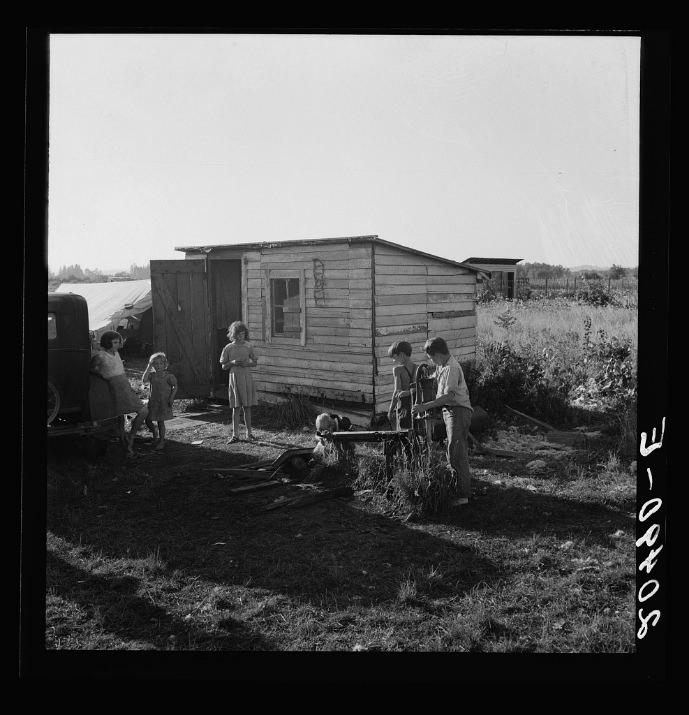
[{"label": "weathered plank walls of the shack, front and side, without the door", "polygon": [[[253,375],[260,399],[296,393],[383,412],[392,395],[391,343],[407,340],[416,362],[425,361],[423,345],[435,335],[458,359],[475,355],[476,274],[366,238],[216,246],[208,253],[210,261],[242,261],[242,316],[259,358]],[[184,250],[187,259],[198,258]],[[303,345],[271,336],[272,271],[303,276]]]}]

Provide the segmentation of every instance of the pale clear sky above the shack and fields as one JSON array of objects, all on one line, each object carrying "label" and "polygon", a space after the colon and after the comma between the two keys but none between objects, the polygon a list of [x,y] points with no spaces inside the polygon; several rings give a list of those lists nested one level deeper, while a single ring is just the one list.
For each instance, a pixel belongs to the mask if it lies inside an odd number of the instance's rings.
[{"label": "pale clear sky above the shack and fields", "polygon": [[639,37],[50,36],[48,266],[377,235],[639,263]]}]

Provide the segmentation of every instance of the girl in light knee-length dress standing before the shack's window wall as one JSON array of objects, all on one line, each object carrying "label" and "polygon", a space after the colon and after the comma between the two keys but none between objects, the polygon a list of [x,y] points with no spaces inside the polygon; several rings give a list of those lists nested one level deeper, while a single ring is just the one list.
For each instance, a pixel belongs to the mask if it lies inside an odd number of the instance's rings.
[{"label": "girl in light knee-length dress standing before the shack's window wall", "polygon": [[220,354],[220,365],[223,370],[230,371],[228,394],[232,408],[232,435],[230,443],[239,441],[239,410],[244,413],[246,438],[255,442],[251,434],[251,408],[258,404],[256,387],[251,375],[251,368],[256,367],[258,359],[253,345],[249,341],[249,331],[244,323],[235,320],[228,328],[227,337],[230,342],[225,345]]}]

